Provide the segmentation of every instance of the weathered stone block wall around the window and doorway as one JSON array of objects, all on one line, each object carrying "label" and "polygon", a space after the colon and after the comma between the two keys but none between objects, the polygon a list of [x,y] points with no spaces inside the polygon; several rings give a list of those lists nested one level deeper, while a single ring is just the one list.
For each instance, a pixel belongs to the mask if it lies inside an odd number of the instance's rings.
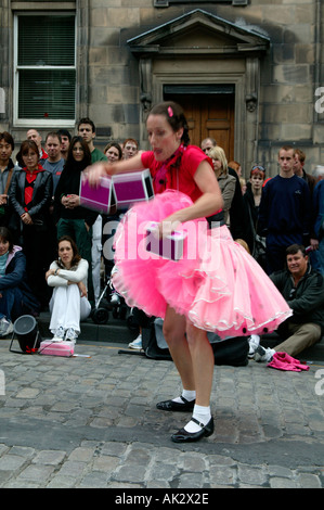
[{"label": "weathered stone block wall around the window and doorway", "polygon": [[[12,125],[12,9],[23,4],[41,9],[44,3],[60,8],[66,2],[0,0],[0,87],[9,94],[7,112],[0,112],[0,129],[10,129],[17,140],[25,130]],[[306,151],[309,170],[324,163],[324,7],[320,0],[249,0],[246,7],[170,1],[166,8],[154,8],[154,0],[69,3],[78,12],[78,60],[83,64],[78,73],[78,117],[93,118],[99,146],[109,139],[140,138],[139,62],[127,41],[198,8],[271,40],[260,63],[255,141],[259,162],[275,175],[278,148],[293,143]]]}]

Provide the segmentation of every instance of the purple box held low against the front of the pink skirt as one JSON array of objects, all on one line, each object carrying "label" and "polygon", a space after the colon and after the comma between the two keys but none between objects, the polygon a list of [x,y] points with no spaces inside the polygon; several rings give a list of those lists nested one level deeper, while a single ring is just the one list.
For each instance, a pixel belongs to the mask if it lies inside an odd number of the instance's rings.
[{"label": "purple box held low against the front of the pink skirt", "polygon": [[176,230],[170,235],[159,239],[154,234],[156,225],[156,222],[151,221],[146,227],[145,250],[169,260],[180,260],[183,256],[183,243],[186,232]]}]

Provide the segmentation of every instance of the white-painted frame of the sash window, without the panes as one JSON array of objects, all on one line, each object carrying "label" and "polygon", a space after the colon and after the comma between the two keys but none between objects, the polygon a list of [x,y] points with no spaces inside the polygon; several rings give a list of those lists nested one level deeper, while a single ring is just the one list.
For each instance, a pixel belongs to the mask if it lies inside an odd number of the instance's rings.
[{"label": "white-painted frame of the sash window, without the panes", "polygon": [[[33,12],[15,12],[14,13],[14,44],[13,44],[13,124],[16,127],[36,127],[36,128],[73,128],[76,123],[76,114],[77,114],[77,38],[78,38],[78,33],[77,33],[77,13],[76,11],[69,12],[72,16],[74,16],[75,20],[75,54],[74,54],[74,65],[64,65],[64,66],[57,66],[57,65],[44,65],[44,66],[37,66],[37,65],[18,65],[18,18],[21,16],[60,16],[60,15],[66,15],[66,11],[33,11]],[[75,87],[75,118],[69,118],[69,119],[53,119],[53,118],[20,118],[18,117],[18,93],[20,93],[20,71],[23,69],[49,69],[49,71],[62,71],[62,69],[73,69],[75,71],[75,76],[76,76],[76,87]]]}]

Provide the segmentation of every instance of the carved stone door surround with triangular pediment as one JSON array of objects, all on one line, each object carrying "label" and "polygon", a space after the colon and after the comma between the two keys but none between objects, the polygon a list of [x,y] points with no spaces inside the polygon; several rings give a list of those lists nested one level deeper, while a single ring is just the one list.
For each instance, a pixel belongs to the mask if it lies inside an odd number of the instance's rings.
[{"label": "carved stone door surround with triangular pediment", "polygon": [[128,40],[139,60],[141,146],[147,146],[145,119],[168,87],[231,86],[234,135],[231,158],[252,164],[258,146],[260,60],[268,37],[196,9]]}]

